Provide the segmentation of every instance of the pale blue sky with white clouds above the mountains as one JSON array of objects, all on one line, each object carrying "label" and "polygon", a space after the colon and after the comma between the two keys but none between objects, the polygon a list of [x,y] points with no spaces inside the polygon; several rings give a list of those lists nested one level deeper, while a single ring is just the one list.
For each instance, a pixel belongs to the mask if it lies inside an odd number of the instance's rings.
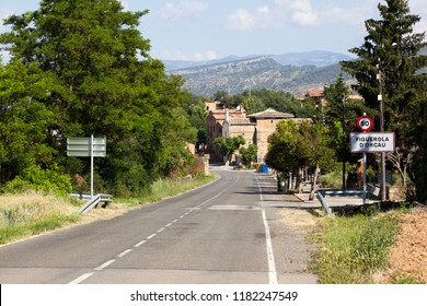
[{"label": "pale blue sky with white clouds above the mountains", "polygon": [[[409,0],[427,32],[426,0]],[[0,0],[0,17],[38,7],[38,0]],[[126,10],[150,13],[140,31],[159,59],[208,60],[229,55],[311,50],[347,54],[363,43],[363,21],[378,19],[380,0],[122,0]],[[0,26],[0,32],[7,31]]]}]

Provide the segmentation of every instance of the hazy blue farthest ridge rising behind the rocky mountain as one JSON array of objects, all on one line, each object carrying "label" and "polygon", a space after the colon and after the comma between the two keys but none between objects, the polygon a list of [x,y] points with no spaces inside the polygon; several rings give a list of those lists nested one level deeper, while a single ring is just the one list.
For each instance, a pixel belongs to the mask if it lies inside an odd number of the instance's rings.
[{"label": "hazy blue farthest ridge rising behind the rocky mountain", "polygon": [[[162,60],[166,67],[166,71],[173,71],[177,69],[186,69],[192,67],[224,63],[230,61],[244,60],[250,58],[263,57],[262,55],[251,55],[244,57],[228,56],[221,59],[206,60],[206,61],[187,61],[187,60]],[[268,57],[276,60],[284,66],[315,66],[324,67],[339,62],[341,60],[350,60],[349,56],[330,51],[309,51],[309,52],[288,52],[282,55],[268,55]]]}]

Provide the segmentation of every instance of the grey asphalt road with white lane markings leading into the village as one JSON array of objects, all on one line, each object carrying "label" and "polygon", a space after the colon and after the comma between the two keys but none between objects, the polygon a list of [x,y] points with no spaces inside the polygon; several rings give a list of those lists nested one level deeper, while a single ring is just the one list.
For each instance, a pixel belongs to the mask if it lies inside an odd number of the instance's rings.
[{"label": "grey asphalt road with white lane markings leading into the village", "polygon": [[[0,283],[315,283],[270,176],[218,170],[197,190],[0,247]],[[276,192],[277,193],[277,192]]]}]

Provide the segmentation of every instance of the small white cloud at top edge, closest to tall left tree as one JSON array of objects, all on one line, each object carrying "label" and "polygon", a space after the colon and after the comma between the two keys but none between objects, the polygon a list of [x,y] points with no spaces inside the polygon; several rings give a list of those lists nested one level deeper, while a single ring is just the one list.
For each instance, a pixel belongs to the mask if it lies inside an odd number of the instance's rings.
[{"label": "small white cloud at top edge, closest to tall left tree", "polygon": [[207,3],[197,0],[182,0],[177,4],[168,2],[162,8],[160,16],[168,20],[198,17],[207,10]]}]

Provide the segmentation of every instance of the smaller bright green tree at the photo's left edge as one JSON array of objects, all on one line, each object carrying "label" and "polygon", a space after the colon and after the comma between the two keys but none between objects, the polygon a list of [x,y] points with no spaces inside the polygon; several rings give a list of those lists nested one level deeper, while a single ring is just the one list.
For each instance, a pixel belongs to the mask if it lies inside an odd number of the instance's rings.
[{"label": "smaller bright green tree at the photo's left edge", "polygon": [[51,85],[51,75],[34,63],[0,67],[0,184],[35,165],[54,166],[58,152],[49,145],[48,129],[57,118],[39,102]]}]

